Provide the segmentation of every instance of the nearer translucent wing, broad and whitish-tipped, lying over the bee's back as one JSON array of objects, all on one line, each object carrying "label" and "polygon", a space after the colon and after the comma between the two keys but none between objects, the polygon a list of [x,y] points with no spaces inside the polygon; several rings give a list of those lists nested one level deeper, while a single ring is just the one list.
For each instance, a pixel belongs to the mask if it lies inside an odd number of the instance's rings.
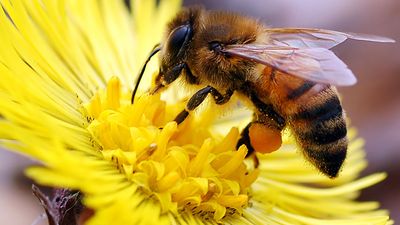
[{"label": "nearer translucent wing, broad and whitish-tipped, lying over the bee's back", "polygon": [[228,45],[221,51],[318,83],[349,86],[357,82],[347,65],[325,48],[244,44]]}]

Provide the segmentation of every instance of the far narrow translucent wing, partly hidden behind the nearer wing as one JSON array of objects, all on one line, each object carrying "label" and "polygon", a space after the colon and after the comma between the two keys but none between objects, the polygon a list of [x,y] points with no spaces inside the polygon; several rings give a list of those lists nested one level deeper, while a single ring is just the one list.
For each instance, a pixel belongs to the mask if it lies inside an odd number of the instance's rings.
[{"label": "far narrow translucent wing, partly hidden behind the nearer wing", "polygon": [[345,33],[312,28],[271,28],[267,29],[266,32],[270,35],[273,45],[298,48],[330,49],[347,39],[373,42],[395,42],[393,39],[376,35]]}]

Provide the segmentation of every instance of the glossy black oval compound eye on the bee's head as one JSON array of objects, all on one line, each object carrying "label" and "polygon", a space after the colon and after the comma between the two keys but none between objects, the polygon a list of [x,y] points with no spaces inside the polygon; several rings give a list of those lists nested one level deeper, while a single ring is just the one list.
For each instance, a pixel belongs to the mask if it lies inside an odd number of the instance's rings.
[{"label": "glossy black oval compound eye on the bee's head", "polygon": [[191,34],[190,25],[182,25],[175,28],[168,38],[167,48],[177,55],[184,44],[189,40]]}]

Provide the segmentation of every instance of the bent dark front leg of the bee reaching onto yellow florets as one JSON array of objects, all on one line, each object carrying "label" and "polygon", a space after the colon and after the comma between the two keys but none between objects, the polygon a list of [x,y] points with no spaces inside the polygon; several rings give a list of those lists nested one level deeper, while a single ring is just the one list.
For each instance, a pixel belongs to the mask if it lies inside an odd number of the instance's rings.
[{"label": "bent dark front leg of the bee reaching onto yellow florets", "polygon": [[211,86],[200,89],[189,99],[188,103],[186,104],[186,109],[182,110],[182,112],[180,112],[178,116],[175,117],[175,122],[177,124],[182,123],[189,115],[189,112],[196,109],[197,106],[199,106],[204,101],[204,99],[206,99],[208,94],[211,94],[213,96],[214,102],[216,104],[222,105],[229,101],[233,94],[233,90],[228,90],[225,94],[221,94],[217,89]]}]

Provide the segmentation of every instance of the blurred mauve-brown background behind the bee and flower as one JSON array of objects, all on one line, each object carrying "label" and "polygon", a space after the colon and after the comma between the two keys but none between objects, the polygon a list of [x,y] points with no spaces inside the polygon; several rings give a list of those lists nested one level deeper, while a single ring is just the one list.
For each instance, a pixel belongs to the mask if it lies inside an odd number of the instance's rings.
[{"label": "blurred mauve-brown background behind the bee and flower", "polygon": [[[334,49],[358,77],[341,88],[344,108],[366,140],[364,174],[388,178],[368,188],[362,200],[381,202],[400,221],[400,1],[398,0],[187,0],[184,5],[240,12],[272,27],[311,27],[376,34],[395,44],[348,41]],[[0,224],[31,224],[42,213],[23,168],[31,162],[0,150]],[[6,221],[12,221],[6,222]]]}]

